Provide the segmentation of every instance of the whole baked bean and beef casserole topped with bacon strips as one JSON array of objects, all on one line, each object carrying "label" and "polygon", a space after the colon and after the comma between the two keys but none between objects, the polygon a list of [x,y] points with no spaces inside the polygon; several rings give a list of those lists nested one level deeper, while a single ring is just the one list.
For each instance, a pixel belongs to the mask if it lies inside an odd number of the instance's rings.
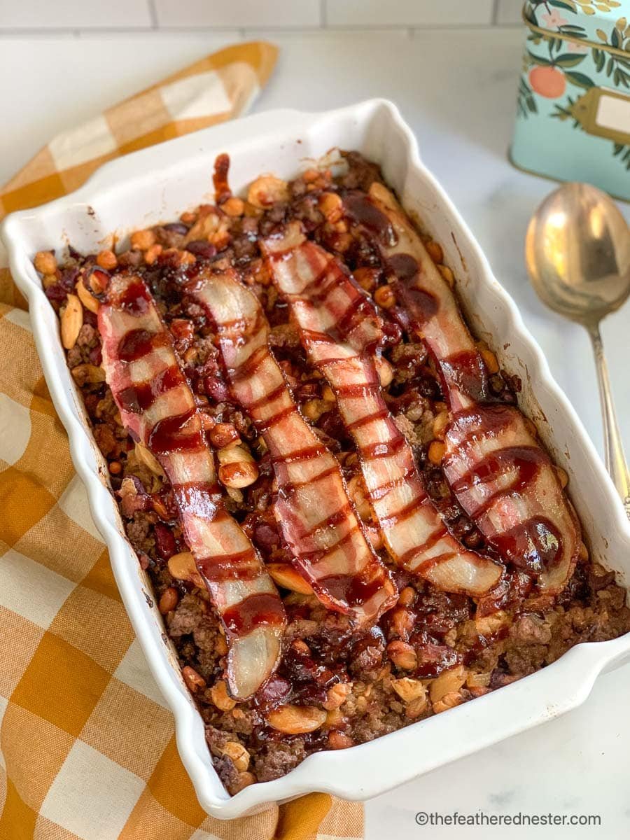
[{"label": "whole baked bean and beef casserole topped with bacon strips", "polygon": [[354,152],[34,258],[230,793],[630,630],[520,383]]}]

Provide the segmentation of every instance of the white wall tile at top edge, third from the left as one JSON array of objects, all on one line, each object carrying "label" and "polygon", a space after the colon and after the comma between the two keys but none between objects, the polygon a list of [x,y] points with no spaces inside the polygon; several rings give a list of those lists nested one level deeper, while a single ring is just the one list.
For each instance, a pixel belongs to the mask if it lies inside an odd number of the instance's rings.
[{"label": "white wall tile at top edge, third from the left", "polygon": [[494,0],[324,0],[328,26],[491,24]]}]

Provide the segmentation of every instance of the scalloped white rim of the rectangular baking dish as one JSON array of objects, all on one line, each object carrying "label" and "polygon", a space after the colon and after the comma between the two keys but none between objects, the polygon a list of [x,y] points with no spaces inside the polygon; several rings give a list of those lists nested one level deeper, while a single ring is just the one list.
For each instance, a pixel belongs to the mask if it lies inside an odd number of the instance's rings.
[{"label": "scalloped white rim of the rectangular baking dish", "polygon": [[[228,795],[218,780],[205,739],[202,738],[201,749],[196,743],[199,732],[202,735],[202,728],[199,727],[200,723],[202,725],[202,719],[197,708],[182,690],[181,678],[175,675],[174,667],[168,663],[165,655],[155,655],[155,638],[151,634],[146,614],[139,609],[142,587],[139,586],[137,577],[129,573],[129,552],[133,553],[133,549],[130,549],[129,542],[118,530],[115,501],[100,477],[86,424],[79,419],[76,407],[72,405],[68,394],[70,373],[66,369],[68,379],[64,381],[63,375],[57,374],[53,361],[46,352],[50,332],[45,324],[45,312],[50,313],[50,303],[40,286],[29,254],[22,247],[22,232],[39,218],[59,217],[68,207],[75,204],[90,205],[95,196],[105,197],[115,192],[122,183],[141,183],[158,171],[162,173],[165,165],[173,165],[176,161],[181,162],[182,159],[200,154],[207,155],[207,147],[212,149],[218,144],[223,144],[228,146],[231,154],[236,157],[239,149],[244,148],[247,143],[243,138],[247,138],[249,134],[258,137],[267,134],[276,137],[276,141],[281,143],[283,132],[290,129],[304,131],[317,123],[335,123],[348,119],[367,123],[378,112],[385,112],[387,118],[402,134],[410,170],[417,171],[428,181],[438,202],[441,202],[444,211],[449,214],[459,241],[465,242],[478,260],[482,279],[493,287],[494,294],[501,299],[509,313],[514,335],[528,351],[528,368],[533,379],[538,382],[538,387],[544,386],[551,393],[579,436],[590,466],[596,472],[596,482],[609,497],[615,510],[618,536],[627,543],[627,549],[630,551],[630,523],[580,418],[554,381],[542,350],[525,327],[516,304],[493,275],[486,256],[470,229],[442,186],[421,162],[412,130],[392,102],[370,99],[346,108],[320,113],[290,109],[269,111],[222,123],[195,134],[187,134],[102,165],[76,192],[33,210],[12,213],[0,228],[7,245],[13,278],[29,301],[39,359],[55,408],[68,431],[71,458],[87,488],[92,517],[107,543],[118,589],[150,670],[175,717],[176,741],[181,760],[192,779],[202,807],[213,816],[225,819],[260,811],[274,802],[286,801],[313,790],[349,800],[365,800],[372,795],[384,793],[438,765],[473,753],[578,706],[590,693],[596,676],[606,667],[611,667],[630,654],[630,633],[607,642],[580,643],[570,648],[554,664],[517,680],[500,691],[478,697],[474,703],[457,706],[446,712],[446,717],[444,713],[429,717],[375,738],[370,743],[345,750],[313,753],[280,779],[249,785],[234,796]],[[135,558],[134,553],[133,557]],[[536,680],[535,684],[533,680]],[[506,708],[509,715],[505,714]],[[479,726],[480,721],[492,722],[492,726]],[[384,773],[387,775],[386,779],[382,778]]]}]

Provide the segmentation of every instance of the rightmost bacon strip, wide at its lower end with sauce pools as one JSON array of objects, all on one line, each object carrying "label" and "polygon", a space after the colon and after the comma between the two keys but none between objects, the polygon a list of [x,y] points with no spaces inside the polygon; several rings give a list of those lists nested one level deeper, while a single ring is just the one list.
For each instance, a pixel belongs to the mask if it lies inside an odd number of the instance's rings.
[{"label": "rightmost bacon strip, wide at its lower end with sauce pools", "polygon": [[351,218],[375,236],[411,328],[440,372],[451,412],[444,475],[465,512],[506,562],[538,575],[541,591],[561,591],[580,552],[580,524],[549,456],[516,407],[496,401],[488,371],[459,312],[402,207],[385,187],[350,196]]}]

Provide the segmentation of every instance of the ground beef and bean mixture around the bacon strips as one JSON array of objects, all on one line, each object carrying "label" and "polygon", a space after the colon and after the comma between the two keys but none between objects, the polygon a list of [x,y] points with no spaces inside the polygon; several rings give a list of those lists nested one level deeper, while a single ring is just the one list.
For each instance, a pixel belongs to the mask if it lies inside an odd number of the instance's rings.
[{"label": "ground beef and bean mixture around the bacon strips", "polygon": [[[118,255],[111,250],[91,255],[71,251],[63,265],[49,252],[35,258],[46,295],[60,315],[75,305],[71,297],[81,298],[81,323],[67,349],[68,365],[94,438],[108,460],[129,540],[153,580],[166,631],[206,723],[213,763],[231,793],[286,774],[314,751],[370,741],[508,685],[554,662],[577,643],[616,638],[630,630],[626,591],[617,585],[614,573],[591,562],[586,549],[564,592],[546,600],[537,598],[532,581],[517,571],[511,572],[501,599],[475,603],[393,569],[399,602],[376,627],[361,633],[353,631],[346,617],[328,612],[312,594],[285,585],[288,579],[276,579],[289,621],[281,663],[250,701],[236,704],[228,696],[222,680],[227,654],[223,630],[207,591],[194,577],[173,574],[176,559],[187,549],[171,491],[155,459],[134,446],[121,425],[99,367],[96,298],[90,302],[89,293],[86,297],[77,289],[77,281],[87,280],[97,295],[99,278],[102,281],[118,266],[131,266],[150,284],[211,443],[220,448],[230,438],[239,440],[254,459],[258,478],[243,489],[228,488],[228,509],[265,562],[286,569],[289,553],[272,512],[273,476],[264,441],[230,402],[213,333],[200,307],[181,295],[179,281],[197,261],[238,267],[269,318],[270,346],[304,416],[339,459],[360,517],[374,530],[354,446],[330,390],[307,365],[286,306],[270,286],[257,237],[272,233],[286,218],[299,218],[308,235],[339,255],[365,291],[374,294],[386,281],[373,244],[350,230],[343,218],[328,217],[324,197],[367,190],[375,180],[381,180],[378,167],[349,153],[336,161],[334,176],[331,171],[309,170],[288,183],[264,176],[249,187],[246,201],[223,192],[217,206],[201,205],[177,222],[136,232],[129,249]],[[428,241],[428,249],[444,276],[452,279],[439,245]],[[396,306],[383,308],[381,314],[387,339],[383,356],[391,367],[385,396],[396,425],[412,445],[428,491],[454,535],[470,548],[491,554],[450,493],[439,459],[433,457],[445,405],[432,363],[423,345],[405,333]],[[493,389],[515,402],[514,382],[498,364],[496,369]],[[378,551],[391,565],[385,551]],[[319,725],[312,732],[277,731],[267,716],[278,706],[311,710],[319,716]]]}]

